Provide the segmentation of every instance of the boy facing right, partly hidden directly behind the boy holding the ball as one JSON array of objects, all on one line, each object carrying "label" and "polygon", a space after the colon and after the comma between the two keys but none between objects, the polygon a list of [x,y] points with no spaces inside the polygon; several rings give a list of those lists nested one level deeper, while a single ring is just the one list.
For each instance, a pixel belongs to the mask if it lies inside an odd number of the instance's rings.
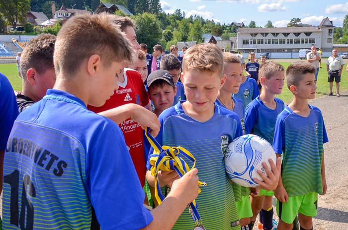
[{"label": "boy facing right, partly hidden directly behind the boy holding the ball", "polygon": [[[226,75],[226,82],[219,90],[216,104],[225,107],[235,112],[241,119],[243,134],[245,134],[244,127],[244,105],[238,98],[233,98],[232,94],[237,93],[241,85],[243,76],[243,68],[241,66],[241,59],[237,55],[231,53],[223,53],[224,57],[224,74]],[[237,211],[239,214],[240,224],[242,230],[251,229],[250,217],[253,216],[252,205],[249,195],[251,189],[232,183],[233,193],[236,200]],[[256,193],[253,189],[253,195]]]}]

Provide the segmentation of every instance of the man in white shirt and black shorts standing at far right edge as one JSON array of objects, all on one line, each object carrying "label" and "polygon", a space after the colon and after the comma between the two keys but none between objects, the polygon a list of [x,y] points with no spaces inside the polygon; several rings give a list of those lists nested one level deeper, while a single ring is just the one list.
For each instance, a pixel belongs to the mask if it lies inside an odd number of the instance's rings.
[{"label": "man in white shirt and black shorts standing at far right edge", "polygon": [[340,82],[344,65],[345,62],[343,61],[343,58],[337,55],[337,50],[333,50],[332,56],[330,56],[326,62],[326,69],[328,70],[328,82],[330,83],[330,93],[327,93],[326,95],[333,95],[332,86],[335,78],[337,89],[336,96],[340,97]]}]

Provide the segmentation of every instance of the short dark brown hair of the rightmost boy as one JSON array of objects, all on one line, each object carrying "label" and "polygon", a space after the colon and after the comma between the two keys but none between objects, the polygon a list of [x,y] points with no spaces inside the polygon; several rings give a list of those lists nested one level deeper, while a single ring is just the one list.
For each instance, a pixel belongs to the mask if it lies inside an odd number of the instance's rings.
[{"label": "short dark brown hair of the rightmost boy", "polygon": [[286,84],[290,89],[290,86],[298,86],[299,82],[303,79],[303,75],[306,73],[315,74],[316,68],[307,61],[297,61],[289,65],[286,69]]}]

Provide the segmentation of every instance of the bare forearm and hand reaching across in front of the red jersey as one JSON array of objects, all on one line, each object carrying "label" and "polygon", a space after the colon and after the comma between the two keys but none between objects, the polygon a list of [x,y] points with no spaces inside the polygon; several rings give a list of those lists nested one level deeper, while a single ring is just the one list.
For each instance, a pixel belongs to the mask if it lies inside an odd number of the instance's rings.
[{"label": "bare forearm and hand reaching across in front of the red jersey", "polygon": [[122,105],[111,110],[100,112],[98,115],[105,116],[117,124],[131,118],[142,126],[150,127],[150,134],[152,136],[157,136],[158,132],[160,131],[161,124],[157,116],[137,104]]}]

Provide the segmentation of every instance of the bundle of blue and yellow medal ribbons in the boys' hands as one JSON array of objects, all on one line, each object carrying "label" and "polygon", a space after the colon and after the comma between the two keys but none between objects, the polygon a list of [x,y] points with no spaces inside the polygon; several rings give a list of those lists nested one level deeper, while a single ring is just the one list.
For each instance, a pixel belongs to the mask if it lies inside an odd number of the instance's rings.
[{"label": "bundle of blue and yellow medal ribbons in the boys' hands", "polygon": [[[183,147],[169,147],[169,146],[160,146],[160,144],[156,141],[156,139],[150,135],[148,127],[145,127],[145,135],[149,140],[151,146],[154,148],[153,154],[150,155],[150,164],[151,164],[151,175],[155,177],[155,199],[158,204],[161,204],[165,199],[160,187],[160,183],[158,182],[158,172],[159,171],[171,171],[175,170],[175,172],[182,177],[185,173],[193,169],[196,165],[196,159],[193,155]],[[189,168],[187,163],[181,158],[178,157],[179,153],[185,156],[188,160],[193,162],[192,168]],[[206,186],[205,182],[198,181],[198,186]],[[198,189],[198,193],[200,193],[200,188]],[[193,221],[197,224],[201,223],[200,215],[198,213],[198,204],[195,200],[188,204],[190,214],[192,216]]]}]

